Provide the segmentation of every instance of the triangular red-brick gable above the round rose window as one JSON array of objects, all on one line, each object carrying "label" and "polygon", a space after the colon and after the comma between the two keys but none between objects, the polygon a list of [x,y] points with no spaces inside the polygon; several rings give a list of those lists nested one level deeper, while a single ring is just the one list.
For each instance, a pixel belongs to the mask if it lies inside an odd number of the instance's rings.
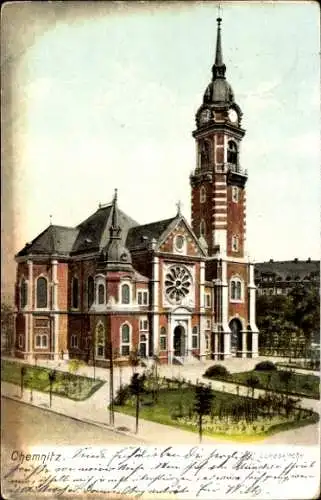
[{"label": "triangular red-brick gable above the round rose window", "polygon": [[175,222],[176,224],[172,224],[160,238],[157,250],[175,255],[203,257],[204,251],[185,219],[181,218]]}]

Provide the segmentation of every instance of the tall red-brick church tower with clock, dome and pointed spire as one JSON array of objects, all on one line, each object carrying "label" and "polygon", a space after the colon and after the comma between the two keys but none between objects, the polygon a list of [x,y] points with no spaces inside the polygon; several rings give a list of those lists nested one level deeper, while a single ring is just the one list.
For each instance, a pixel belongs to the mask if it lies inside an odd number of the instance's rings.
[{"label": "tall red-brick church tower with clock, dome and pointed spire", "polygon": [[[196,113],[196,168],[190,177],[192,228],[208,249],[206,279],[215,286],[217,358],[257,355],[253,265],[246,252],[247,171],[241,163],[242,111],[226,79],[222,19],[212,79]],[[205,240],[205,241],[204,241]]]}]

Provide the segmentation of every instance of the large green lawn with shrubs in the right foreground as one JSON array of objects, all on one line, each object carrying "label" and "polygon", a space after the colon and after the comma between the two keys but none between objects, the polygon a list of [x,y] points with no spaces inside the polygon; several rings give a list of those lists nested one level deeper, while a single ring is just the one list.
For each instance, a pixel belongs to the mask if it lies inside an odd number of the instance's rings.
[{"label": "large green lawn with shrubs in the right foreground", "polygon": [[[272,410],[262,400],[237,396],[226,392],[213,391],[214,400],[211,414],[203,418],[204,434],[225,439],[251,441],[263,439],[266,435],[288,428],[307,425],[318,420],[316,413],[293,409],[290,415]],[[195,387],[184,384],[165,387],[158,392],[157,402],[153,394],[141,395],[140,418],[198,432],[198,417],[194,413]],[[271,400],[271,405],[274,402]],[[241,415],[241,407],[247,407],[246,417]],[[135,398],[130,396],[125,404],[115,405],[115,411],[135,416]]]}]

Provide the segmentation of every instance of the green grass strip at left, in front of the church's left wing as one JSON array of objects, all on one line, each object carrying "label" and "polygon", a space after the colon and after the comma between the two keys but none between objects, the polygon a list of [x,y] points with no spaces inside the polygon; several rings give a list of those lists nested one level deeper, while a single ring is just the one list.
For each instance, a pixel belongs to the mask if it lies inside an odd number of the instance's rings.
[{"label": "green grass strip at left, in front of the church's left wing", "polygon": [[[1,380],[20,386],[22,366],[26,367],[23,383],[25,389],[49,392],[49,373],[52,371],[49,368],[2,360]],[[52,393],[75,401],[84,401],[100,389],[104,383],[102,380],[94,380],[89,377],[56,370]]]}]

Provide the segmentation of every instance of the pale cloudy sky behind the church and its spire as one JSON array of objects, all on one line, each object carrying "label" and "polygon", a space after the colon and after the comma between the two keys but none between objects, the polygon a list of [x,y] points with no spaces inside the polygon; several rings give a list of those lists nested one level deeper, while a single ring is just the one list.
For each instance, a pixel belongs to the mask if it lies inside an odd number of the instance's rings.
[{"label": "pale cloudy sky behind the church and its spire", "polygon": [[[50,215],[75,226],[114,188],[141,224],[174,216],[178,200],[190,221],[191,133],[211,79],[217,7],[7,4],[6,262]],[[223,2],[221,15],[226,77],[246,129],[249,254],[318,259],[318,4]]]}]

